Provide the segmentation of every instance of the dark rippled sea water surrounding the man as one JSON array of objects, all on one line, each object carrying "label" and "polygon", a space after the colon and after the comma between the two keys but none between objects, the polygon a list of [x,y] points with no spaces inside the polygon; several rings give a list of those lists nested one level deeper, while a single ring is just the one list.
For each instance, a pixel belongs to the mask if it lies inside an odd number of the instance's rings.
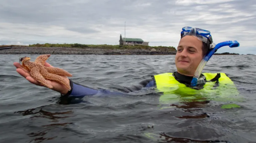
[{"label": "dark rippled sea water surrounding the man", "polygon": [[[256,56],[213,56],[203,72],[225,72],[236,84],[241,108],[221,102],[160,105],[159,96],[85,97],[59,104],[60,94],[21,77],[13,62],[38,55],[0,55],[1,143],[256,142]],[[137,84],[176,70],[174,56],[51,55],[51,65],[93,88]]]}]

